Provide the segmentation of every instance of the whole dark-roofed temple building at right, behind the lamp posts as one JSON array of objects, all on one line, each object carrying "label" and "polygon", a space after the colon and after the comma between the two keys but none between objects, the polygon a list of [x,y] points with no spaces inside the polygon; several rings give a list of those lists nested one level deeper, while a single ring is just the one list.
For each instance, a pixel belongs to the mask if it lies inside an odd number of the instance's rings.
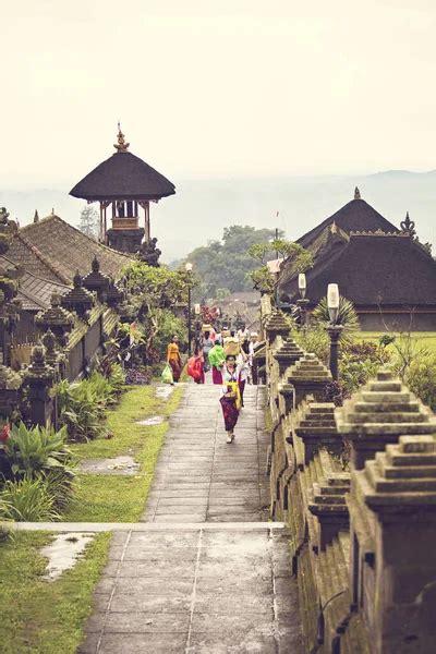
[{"label": "whole dark-roofed temple building at right, behind the lamp posts", "polygon": [[[354,199],[296,242],[314,257],[306,270],[308,311],[334,282],[353,302],[362,330],[436,329],[436,263],[417,241],[409,215],[399,229],[356,189]],[[279,299],[296,302],[298,277],[287,259],[278,280]]]}]

